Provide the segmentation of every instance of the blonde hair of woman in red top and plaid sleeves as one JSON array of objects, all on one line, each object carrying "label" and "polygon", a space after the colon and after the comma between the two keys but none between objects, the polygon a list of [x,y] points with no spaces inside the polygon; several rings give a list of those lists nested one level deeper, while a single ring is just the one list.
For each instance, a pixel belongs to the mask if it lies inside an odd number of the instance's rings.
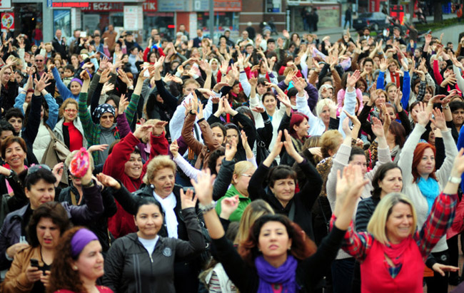
[{"label": "blonde hair of woman in red top and plaid sleeves", "polygon": [[418,222],[418,217],[415,213],[415,209],[413,207],[413,202],[404,195],[403,193],[393,192],[385,195],[382,200],[378,203],[377,207],[375,207],[374,214],[370,217],[370,221],[368,224],[368,232],[373,235],[375,240],[384,245],[390,242],[387,237],[387,221],[388,217],[390,217],[391,213],[393,212],[393,207],[398,203],[404,203],[405,205],[409,205],[411,209],[411,213],[413,214],[413,225],[410,227],[410,235],[413,235],[415,232],[415,228]]}]

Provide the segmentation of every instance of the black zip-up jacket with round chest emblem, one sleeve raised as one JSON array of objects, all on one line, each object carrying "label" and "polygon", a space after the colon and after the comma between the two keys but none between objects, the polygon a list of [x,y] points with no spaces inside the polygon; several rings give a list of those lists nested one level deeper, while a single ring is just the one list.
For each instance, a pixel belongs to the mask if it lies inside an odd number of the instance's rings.
[{"label": "black zip-up jacket with round chest emblem, one sleeve raised", "polygon": [[182,210],[189,241],[159,237],[148,255],[137,233],[118,238],[105,258],[104,286],[114,292],[176,292],[174,265],[205,248],[195,209]]}]

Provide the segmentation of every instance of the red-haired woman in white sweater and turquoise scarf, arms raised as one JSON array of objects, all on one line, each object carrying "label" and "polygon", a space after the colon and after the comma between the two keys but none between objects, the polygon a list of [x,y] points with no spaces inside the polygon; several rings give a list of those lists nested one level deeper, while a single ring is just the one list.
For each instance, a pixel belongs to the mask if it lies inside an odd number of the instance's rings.
[{"label": "red-haired woman in white sweater and turquoise scarf, arms raised", "polygon": [[[445,115],[438,109],[433,110],[434,119],[430,118],[430,115],[421,103],[417,115],[418,123],[406,140],[398,160],[398,166],[403,170],[403,192],[413,202],[417,211],[418,227],[423,227],[425,220],[430,216],[433,202],[443,190],[443,185],[448,180],[454,182],[459,179],[460,183],[460,176],[453,179],[453,160],[458,154],[458,149],[451,131],[446,127]],[[429,143],[419,143],[420,135],[425,132],[429,120],[440,129],[445,144],[446,157],[439,170],[435,170],[435,147]],[[438,262],[448,264],[446,237],[441,237],[431,252]],[[425,282],[431,290],[429,292],[445,292],[448,288],[448,277],[442,277],[437,273],[433,278],[425,278]]]}]

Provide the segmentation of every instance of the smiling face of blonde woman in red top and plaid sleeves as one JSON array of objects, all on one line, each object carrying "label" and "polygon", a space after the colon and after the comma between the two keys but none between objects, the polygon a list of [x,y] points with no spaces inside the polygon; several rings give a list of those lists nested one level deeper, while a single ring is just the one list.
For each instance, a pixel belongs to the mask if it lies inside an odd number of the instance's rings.
[{"label": "smiling face of blonde woman in red top and plaid sleeves", "polygon": [[393,244],[398,244],[409,237],[413,227],[413,211],[410,205],[398,202],[392,207],[391,214],[386,222],[387,237]]}]

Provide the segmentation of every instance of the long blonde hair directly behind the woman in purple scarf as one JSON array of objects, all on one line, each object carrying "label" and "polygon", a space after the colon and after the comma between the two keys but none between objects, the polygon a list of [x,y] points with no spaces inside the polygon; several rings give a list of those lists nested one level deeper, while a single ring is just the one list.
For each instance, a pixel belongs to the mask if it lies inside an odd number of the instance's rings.
[{"label": "long blonde hair directly behind the woman in purple scarf", "polygon": [[247,205],[240,219],[240,226],[233,243],[240,245],[240,243],[244,242],[250,234],[251,226],[253,226],[258,217],[263,215],[274,215],[273,208],[264,200],[253,200]]}]

